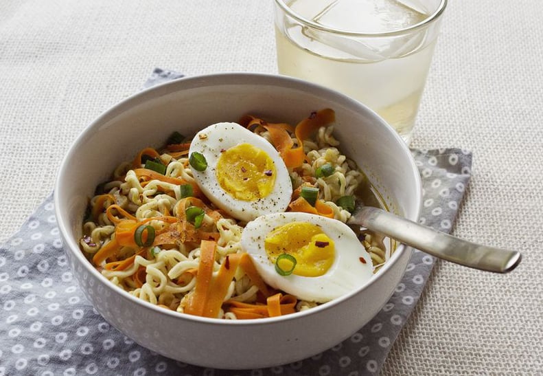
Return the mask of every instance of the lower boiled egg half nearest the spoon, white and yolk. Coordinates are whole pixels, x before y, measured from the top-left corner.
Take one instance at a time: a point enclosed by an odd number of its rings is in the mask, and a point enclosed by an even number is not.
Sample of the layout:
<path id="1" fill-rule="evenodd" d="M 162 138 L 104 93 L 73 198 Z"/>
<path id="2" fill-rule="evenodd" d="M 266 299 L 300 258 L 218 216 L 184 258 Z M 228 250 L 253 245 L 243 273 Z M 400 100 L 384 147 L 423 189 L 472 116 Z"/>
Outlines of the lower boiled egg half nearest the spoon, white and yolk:
<path id="1" fill-rule="evenodd" d="M 316 214 L 258 217 L 247 223 L 241 242 L 264 282 L 299 299 L 327 302 L 373 275 L 371 257 L 349 226 Z"/>

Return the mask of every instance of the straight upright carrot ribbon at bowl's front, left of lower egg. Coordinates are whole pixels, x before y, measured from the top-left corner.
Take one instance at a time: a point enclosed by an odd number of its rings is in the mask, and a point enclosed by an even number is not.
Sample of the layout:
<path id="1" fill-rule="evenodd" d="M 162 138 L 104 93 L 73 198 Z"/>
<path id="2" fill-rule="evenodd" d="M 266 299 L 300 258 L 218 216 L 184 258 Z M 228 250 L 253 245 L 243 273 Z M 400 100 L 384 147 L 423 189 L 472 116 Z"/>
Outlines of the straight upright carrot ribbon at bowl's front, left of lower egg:
<path id="1" fill-rule="evenodd" d="M 202 241 L 200 243 L 200 262 L 194 291 L 189 295 L 185 313 L 195 316 L 206 316 L 206 305 L 211 293 L 211 277 L 215 263 L 217 243 Z"/>

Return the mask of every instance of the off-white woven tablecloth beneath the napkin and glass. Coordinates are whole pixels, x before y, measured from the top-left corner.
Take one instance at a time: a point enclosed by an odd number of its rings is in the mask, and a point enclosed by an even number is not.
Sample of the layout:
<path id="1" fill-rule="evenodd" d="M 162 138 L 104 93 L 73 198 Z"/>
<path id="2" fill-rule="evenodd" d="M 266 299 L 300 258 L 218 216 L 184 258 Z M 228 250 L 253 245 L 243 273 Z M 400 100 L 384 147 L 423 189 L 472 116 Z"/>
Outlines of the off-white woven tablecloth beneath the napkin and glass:
<path id="1" fill-rule="evenodd" d="M 448 4 L 411 146 L 472 151 L 453 232 L 524 258 L 507 275 L 437 263 L 383 375 L 543 374 L 541 19 L 541 1 Z M 276 73 L 274 46 L 271 0 L 1 1 L 0 243 L 154 67 Z"/>

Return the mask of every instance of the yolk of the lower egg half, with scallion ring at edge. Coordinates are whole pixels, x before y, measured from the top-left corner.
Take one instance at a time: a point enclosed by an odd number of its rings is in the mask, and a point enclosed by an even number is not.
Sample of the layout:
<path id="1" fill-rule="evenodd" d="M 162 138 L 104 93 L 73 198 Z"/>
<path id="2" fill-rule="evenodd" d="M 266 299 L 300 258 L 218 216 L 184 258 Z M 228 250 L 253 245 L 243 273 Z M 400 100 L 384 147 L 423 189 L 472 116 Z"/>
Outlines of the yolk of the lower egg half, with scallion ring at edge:
<path id="1" fill-rule="evenodd" d="M 280 254 L 294 256 L 296 267 L 292 274 L 304 277 L 325 274 L 334 263 L 336 253 L 334 241 L 319 226 L 305 222 L 291 222 L 275 228 L 266 236 L 264 248 L 274 264 Z M 285 263 L 290 264 L 289 261 Z M 279 267 L 288 270 L 292 264 Z"/>

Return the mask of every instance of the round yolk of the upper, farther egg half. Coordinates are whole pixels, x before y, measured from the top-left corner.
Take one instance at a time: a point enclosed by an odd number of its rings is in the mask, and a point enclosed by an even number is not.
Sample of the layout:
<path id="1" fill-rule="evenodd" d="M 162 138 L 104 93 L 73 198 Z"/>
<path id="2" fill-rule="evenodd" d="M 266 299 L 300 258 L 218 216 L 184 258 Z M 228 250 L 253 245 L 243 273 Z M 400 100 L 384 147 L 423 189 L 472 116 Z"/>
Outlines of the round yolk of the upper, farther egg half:
<path id="1" fill-rule="evenodd" d="M 223 190 L 235 199 L 256 201 L 270 194 L 275 184 L 275 164 L 270 156 L 251 144 L 222 151 L 216 176 Z"/>

